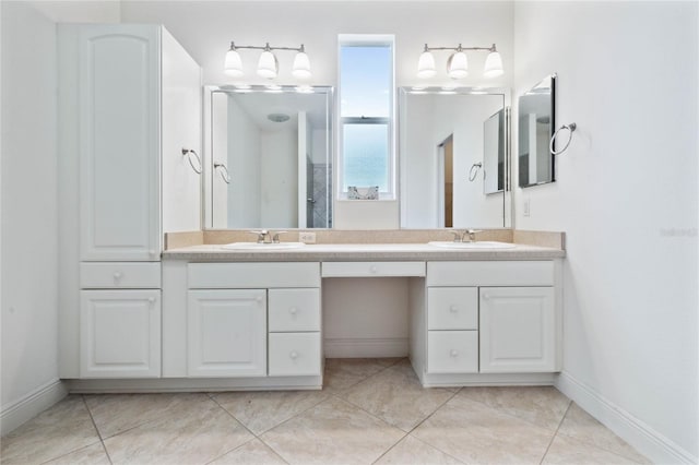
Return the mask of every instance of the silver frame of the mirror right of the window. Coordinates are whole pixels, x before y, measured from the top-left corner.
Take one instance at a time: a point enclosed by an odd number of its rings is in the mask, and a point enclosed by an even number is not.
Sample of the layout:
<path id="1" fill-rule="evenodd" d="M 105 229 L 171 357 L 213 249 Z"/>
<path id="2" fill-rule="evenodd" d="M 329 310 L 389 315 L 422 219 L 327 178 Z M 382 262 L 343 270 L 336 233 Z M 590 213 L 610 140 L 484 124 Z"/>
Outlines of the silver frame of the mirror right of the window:
<path id="1" fill-rule="evenodd" d="M 469 225 L 464 227 L 487 227 L 488 229 L 510 229 L 514 224 L 514 202 L 512 201 L 512 111 L 511 111 L 511 91 L 507 87 L 441 87 L 441 86 L 426 86 L 416 88 L 414 86 L 400 86 L 398 87 L 396 99 L 396 114 L 398 114 L 398 164 L 399 164 L 399 225 L 402 225 L 402 215 L 405 210 L 403 191 L 405 189 L 405 170 L 403 169 L 404 154 L 401 147 L 403 134 L 401 134 L 401 116 L 403 112 L 403 106 L 405 105 L 406 94 L 430 94 L 430 95 L 500 95 L 502 96 L 502 110 L 505 111 L 505 186 L 503 189 L 497 192 L 485 193 L 487 196 L 496 194 L 502 194 L 502 225 L 497 227 L 484 226 L 484 225 Z M 483 130 L 483 129 L 482 129 Z M 478 172 L 478 177 L 483 174 Z M 484 186 L 485 188 L 485 186 Z M 400 229 L 411 230 L 414 228 L 399 226 Z M 430 229 L 441 229 L 440 227 L 434 227 Z"/>

